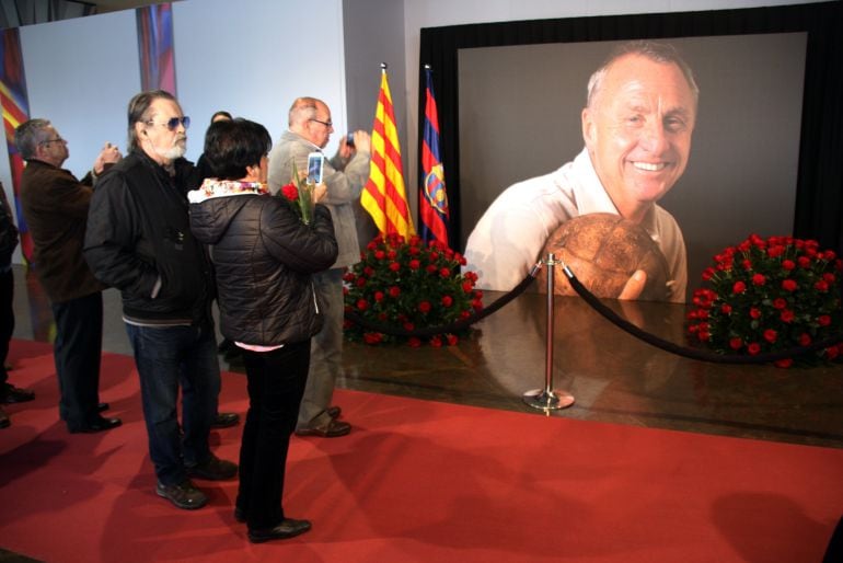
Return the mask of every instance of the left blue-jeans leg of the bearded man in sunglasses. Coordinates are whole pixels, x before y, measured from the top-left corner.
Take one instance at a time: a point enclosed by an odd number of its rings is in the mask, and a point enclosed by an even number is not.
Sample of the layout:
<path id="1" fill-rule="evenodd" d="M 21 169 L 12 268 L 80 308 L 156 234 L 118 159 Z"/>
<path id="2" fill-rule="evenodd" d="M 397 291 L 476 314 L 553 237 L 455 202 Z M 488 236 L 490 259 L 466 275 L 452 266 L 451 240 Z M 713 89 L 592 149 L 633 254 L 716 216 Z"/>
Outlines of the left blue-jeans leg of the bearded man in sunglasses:
<path id="1" fill-rule="evenodd" d="M 182 462 L 176 401 L 182 348 L 190 331 L 189 326 L 152 329 L 126 323 L 140 378 L 149 456 L 158 481 L 168 486 L 187 479 Z"/>

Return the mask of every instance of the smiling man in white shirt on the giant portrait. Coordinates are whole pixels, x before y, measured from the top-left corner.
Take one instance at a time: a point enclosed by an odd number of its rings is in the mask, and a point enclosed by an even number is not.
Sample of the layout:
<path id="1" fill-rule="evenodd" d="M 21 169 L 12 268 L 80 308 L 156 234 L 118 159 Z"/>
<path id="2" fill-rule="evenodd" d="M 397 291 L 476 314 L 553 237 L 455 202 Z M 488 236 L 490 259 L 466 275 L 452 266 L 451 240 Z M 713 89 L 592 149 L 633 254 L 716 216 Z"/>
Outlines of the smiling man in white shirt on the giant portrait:
<path id="1" fill-rule="evenodd" d="M 669 268 L 668 300 L 683 302 L 684 240 L 658 202 L 688 164 L 698 90 L 669 45 L 622 45 L 588 84 L 586 148 L 550 174 L 519 182 L 489 206 L 469 237 L 467 268 L 478 286 L 509 290 L 539 258 L 547 237 L 579 215 L 612 212 L 642 226 Z M 646 274 L 633 274 L 619 298 L 635 299 Z"/>

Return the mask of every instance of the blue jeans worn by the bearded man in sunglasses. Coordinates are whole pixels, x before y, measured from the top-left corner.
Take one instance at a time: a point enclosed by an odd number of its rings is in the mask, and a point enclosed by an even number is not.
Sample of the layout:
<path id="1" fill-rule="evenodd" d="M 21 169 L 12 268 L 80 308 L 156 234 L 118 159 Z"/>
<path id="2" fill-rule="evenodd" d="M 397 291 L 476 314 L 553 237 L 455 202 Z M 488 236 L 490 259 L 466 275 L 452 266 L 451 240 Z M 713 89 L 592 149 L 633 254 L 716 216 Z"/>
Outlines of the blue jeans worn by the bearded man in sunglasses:
<path id="1" fill-rule="evenodd" d="M 126 323 L 140 376 L 149 456 L 163 485 L 187 479 L 185 467 L 210 457 L 208 434 L 220 391 L 213 323 L 149 328 Z M 182 427 L 178 388 L 182 388 Z"/>

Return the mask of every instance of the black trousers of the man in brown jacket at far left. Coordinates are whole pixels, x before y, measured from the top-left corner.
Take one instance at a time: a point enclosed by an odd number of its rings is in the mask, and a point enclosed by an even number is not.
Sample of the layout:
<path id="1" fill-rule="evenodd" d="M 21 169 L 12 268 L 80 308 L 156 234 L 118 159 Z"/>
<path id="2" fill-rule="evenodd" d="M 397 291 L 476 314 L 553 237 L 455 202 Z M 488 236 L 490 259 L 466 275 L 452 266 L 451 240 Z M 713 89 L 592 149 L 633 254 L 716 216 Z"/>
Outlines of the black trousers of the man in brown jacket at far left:
<path id="1" fill-rule="evenodd" d="M 53 303 L 56 342 L 53 353 L 61 399 L 59 415 L 69 430 L 100 416 L 100 359 L 103 346 L 103 295 L 97 291 Z"/>

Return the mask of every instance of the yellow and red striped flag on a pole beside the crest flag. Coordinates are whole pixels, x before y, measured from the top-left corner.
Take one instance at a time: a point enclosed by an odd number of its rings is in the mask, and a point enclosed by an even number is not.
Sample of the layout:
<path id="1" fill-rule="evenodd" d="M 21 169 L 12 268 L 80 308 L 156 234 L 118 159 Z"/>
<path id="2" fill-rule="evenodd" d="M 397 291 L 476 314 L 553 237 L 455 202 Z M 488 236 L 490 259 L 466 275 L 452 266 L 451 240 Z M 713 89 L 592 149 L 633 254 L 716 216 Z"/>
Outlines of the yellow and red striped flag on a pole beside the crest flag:
<path id="1" fill-rule="evenodd" d="M 381 68 L 381 91 L 372 126 L 369 181 L 360 195 L 360 204 L 372 216 L 382 234 L 397 233 L 409 238 L 416 233 L 404 189 L 399 131 L 385 66 Z"/>

